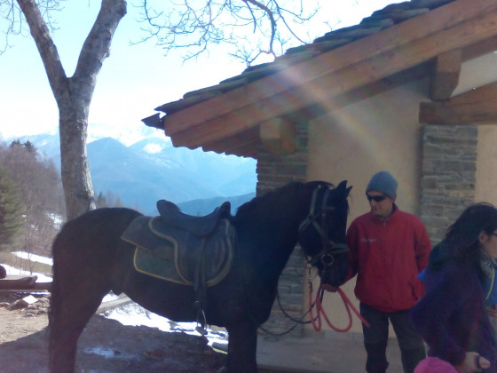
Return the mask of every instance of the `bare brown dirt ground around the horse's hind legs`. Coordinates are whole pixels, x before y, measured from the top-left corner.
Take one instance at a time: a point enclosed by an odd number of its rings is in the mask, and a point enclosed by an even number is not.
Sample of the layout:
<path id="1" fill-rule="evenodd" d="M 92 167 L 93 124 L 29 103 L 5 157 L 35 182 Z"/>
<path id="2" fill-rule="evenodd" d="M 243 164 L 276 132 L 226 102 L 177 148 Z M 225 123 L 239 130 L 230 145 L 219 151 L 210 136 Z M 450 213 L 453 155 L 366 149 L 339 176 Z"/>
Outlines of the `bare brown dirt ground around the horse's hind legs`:
<path id="1" fill-rule="evenodd" d="M 0 371 L 48 373 L 48 299 L 37 296 L 20 306 L 19 296 L 0 293 Z M 223 371 L 225 354 L 215 353 L 203 337 L 144 326 L 124 326 L 95 315 L 79 339 L 75 372 Z"/>

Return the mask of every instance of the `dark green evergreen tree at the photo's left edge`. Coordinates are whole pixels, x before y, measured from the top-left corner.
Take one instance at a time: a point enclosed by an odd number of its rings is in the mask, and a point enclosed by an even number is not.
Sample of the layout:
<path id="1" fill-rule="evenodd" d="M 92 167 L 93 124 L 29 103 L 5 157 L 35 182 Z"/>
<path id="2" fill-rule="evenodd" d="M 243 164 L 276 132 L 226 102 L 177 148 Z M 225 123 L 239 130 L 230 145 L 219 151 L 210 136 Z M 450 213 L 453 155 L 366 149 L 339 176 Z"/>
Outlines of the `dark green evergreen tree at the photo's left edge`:
<path id="1" fill-rule="evenodd" d="M 9 248 L 23 224 L 22 204 L 17 190 L 9 172 L 0 165 L 0 250 Z"/>

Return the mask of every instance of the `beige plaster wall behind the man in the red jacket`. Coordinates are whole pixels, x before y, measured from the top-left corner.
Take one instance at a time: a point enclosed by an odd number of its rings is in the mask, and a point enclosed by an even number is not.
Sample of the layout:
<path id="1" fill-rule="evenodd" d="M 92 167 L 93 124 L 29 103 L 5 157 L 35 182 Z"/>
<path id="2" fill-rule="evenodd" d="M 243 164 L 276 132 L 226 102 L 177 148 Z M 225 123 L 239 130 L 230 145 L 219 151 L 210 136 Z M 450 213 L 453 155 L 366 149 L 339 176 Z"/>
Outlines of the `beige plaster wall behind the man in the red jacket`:
<path id="1" fill-rule="evenodd" d="M 352 186 L 352 219 L 369 210 L 365 189 L 372 175 L 390 171 L 398 180 L 398 207 L 419 216 L 421 127 L 419 102 L 427 100 L 428 80 L 409 83 L 319 117 L 309 126 L 307 179 L 337 185 L 347 179 Z M 353 294 L 355 279 L 342 289 L 359 309 Z M 319 281 L 314 281 L 314 289 Z M 307 295 L 304 296 L 307 299 Z M 348 316 L 337 293 L 327 293 L 324 308 L 330 321 L 343 328 Z M 353 316 L 352 332 L 362 332 Z M 308 326 L 306 331 L 310 331 Z M 324 328 L 328 329 L 329 328 Z"/>

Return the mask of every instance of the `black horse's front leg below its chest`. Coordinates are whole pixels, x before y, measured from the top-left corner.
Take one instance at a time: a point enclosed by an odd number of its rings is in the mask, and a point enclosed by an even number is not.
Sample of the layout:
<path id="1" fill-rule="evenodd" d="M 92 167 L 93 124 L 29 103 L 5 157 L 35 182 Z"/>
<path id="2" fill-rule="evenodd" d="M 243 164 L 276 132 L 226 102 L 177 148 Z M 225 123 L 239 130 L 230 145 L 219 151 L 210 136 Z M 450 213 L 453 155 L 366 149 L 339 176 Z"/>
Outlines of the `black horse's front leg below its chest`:
<path id="1" fill-rule="evenodd" d="M 226 327 L 229 336 L 228 373 L 255 373 L 257 371 L 257 327 L 253 322 L 243 321 Z"/>

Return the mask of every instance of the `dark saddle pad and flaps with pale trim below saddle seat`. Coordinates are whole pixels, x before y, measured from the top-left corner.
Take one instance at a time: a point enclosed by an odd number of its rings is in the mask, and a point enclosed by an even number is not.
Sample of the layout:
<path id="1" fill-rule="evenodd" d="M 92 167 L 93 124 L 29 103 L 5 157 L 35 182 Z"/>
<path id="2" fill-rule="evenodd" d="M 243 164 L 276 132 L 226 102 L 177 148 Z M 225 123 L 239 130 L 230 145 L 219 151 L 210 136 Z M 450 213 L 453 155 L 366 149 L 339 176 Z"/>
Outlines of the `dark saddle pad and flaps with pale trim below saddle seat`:
<path id="1" fill-rule="evenodd" d="M 200 239 L 166 225 L 161 217 L 138 217 L 121 238 L 136 246 L 133 264 L 138 272 L 170 282 L 193 285 L 201 266 L 207 286 L 213 286 L 225 278 L 232 265 L 234 228 L 225 219 L 209 237 Z"/>

